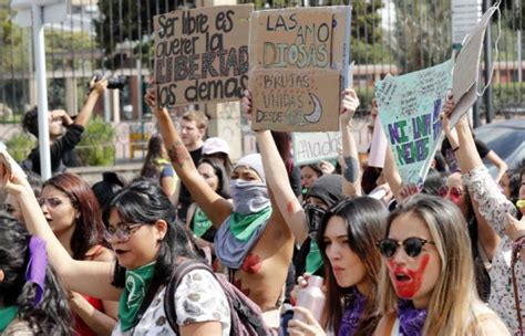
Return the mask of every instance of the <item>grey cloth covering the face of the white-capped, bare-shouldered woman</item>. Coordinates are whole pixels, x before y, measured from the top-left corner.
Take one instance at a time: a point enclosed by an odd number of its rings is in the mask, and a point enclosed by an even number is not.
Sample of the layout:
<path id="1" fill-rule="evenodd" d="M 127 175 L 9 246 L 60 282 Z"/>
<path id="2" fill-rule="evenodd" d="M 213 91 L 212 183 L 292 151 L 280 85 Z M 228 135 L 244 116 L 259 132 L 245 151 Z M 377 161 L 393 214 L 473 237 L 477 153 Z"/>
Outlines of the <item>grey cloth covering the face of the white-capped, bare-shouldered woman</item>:
<path id="1" fill-rule="evenodd" d="M 248 182 L 240 179 L 230 182 L 234 211 L 240 214 L 259 212 L 270 204 L 265 183 Z"/>

